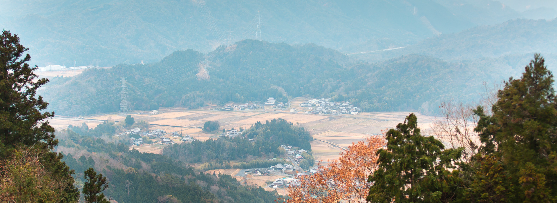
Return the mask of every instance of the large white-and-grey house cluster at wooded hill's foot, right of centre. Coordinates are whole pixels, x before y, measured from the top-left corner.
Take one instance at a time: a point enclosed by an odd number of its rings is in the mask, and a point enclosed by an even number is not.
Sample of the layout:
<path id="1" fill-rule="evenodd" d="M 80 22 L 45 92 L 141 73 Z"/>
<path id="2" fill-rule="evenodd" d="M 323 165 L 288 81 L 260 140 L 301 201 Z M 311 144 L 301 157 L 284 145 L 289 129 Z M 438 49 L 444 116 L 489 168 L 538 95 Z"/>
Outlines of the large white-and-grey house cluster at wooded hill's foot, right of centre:
<path id="1" fill-rule="evenodd" d="M 360 108 L 354 107 L 350 102 L 330 102 L 330 100 L 330 98 L 321 98 L 319 100 L 314 98 L 300 103 L 300 106 L 306 107 L 309 110 L 305 113 L 315 114 L 358 114 L 361 111 Z"/>

